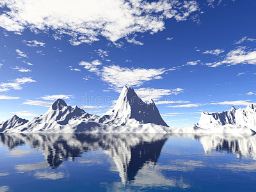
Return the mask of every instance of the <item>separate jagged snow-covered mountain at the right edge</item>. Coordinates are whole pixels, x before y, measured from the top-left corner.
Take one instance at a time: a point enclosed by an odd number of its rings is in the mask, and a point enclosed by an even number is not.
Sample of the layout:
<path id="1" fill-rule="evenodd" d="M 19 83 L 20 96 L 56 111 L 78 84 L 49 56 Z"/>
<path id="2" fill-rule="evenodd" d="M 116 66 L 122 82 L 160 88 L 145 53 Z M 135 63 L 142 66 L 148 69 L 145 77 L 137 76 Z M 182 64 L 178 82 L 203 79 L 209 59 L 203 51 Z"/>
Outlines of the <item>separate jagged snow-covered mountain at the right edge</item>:
<path id="1" fill-rule="evenodd" d="M 232 106 L 230 111 L 222 113 L 202 112 L 198 122 L 199 127 L 216 128 L 228 125 L 246 127 L 256 131 L 256 105 L 251 104 L 245 109 L 236 109 Z"/>

